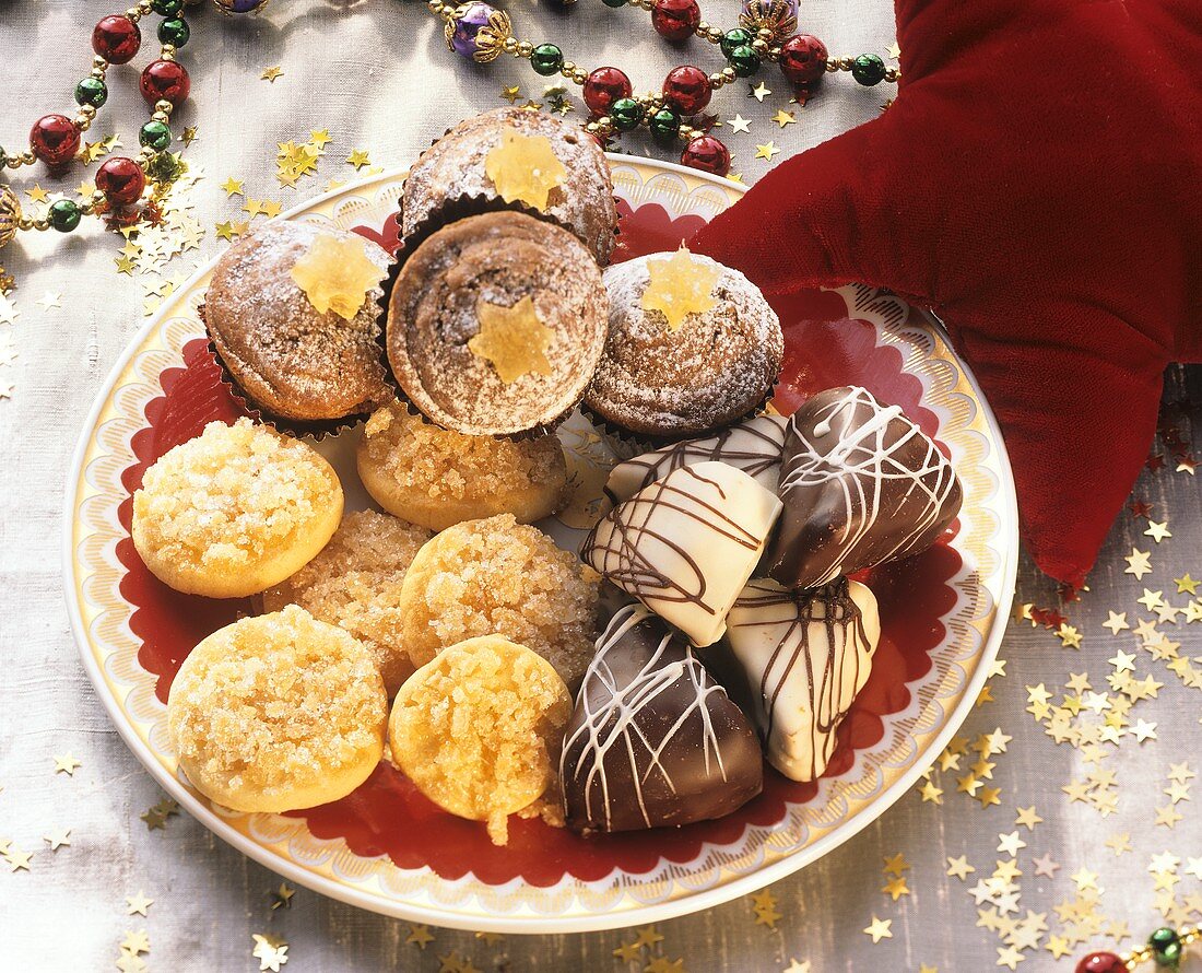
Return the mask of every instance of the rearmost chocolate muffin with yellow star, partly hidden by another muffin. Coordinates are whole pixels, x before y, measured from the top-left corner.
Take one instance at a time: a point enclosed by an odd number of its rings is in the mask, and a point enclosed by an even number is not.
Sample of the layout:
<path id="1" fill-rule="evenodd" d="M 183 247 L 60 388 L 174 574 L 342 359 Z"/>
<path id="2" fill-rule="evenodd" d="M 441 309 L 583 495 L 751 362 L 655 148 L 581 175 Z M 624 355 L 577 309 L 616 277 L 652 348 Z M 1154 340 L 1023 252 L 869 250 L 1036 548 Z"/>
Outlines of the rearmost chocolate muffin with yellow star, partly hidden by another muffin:
<path id="1" fill-rule="evenodd" d="M 506 141 L 516 146 L 506 148 Z M 548 148 L 554 158 L 545 159 L 546 171 L 535 173 L 542 177 L 535 182 L 536 192 L 522 191 L 529 183 L 518 185 L 517 194 L 504 179 L 498 184 L 498 168 L 524 178 Z M 541 210 L 571 230 L 599 263 L 609 261 L 618 226 L 609 166 L 596 140 L 576 125 L 512 107 L 460 121 L 410 170 L 401 198 L 401 236 L 411 236 L 448 201 L 460 198 Z"/>

